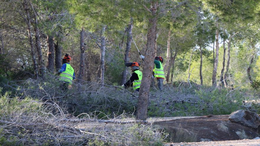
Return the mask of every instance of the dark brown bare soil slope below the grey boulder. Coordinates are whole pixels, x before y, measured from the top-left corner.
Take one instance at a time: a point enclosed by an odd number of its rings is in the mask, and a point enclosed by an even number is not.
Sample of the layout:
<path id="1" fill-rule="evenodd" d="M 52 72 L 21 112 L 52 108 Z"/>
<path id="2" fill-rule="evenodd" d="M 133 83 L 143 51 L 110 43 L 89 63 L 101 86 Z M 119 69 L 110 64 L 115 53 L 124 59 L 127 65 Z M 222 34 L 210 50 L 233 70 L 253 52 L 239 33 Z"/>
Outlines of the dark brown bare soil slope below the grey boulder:
<path id="1" fill-rule="evenodd" d="M 173 142 L 253 139 L 258 130 L 228 120 L 229 115 L 152 120 L 171 134 Z"/>

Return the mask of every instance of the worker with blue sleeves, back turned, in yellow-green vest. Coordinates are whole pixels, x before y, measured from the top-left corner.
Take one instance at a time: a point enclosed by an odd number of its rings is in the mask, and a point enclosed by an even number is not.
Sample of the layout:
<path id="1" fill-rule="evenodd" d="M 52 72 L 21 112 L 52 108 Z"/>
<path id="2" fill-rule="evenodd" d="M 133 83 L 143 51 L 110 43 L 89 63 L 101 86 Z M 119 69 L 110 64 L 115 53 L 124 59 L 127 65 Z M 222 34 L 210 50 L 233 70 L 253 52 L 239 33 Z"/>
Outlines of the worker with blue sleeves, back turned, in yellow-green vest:
<path id="1" fill-rule="evenodd" d="M 62 81 L 60 88 L 63 91 L 68 90 L 68 86 L 71 85 L 72 80 L 75 79 L 74 69 L 70 65 L 71 57 L 68 54 L 65 54 L 64 58 L 62 59 L 62 66 L 61 69 L 58 71 L 60 73 L 59 80 Z"/>

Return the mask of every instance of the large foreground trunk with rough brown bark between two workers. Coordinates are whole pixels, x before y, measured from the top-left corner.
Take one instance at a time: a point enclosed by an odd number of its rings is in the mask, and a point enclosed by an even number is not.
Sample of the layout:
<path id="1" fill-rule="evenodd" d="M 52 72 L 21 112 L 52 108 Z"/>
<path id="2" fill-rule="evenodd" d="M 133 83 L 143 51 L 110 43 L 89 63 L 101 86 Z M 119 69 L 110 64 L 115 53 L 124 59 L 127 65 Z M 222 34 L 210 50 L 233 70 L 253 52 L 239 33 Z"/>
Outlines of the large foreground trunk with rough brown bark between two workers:
<path id="1" fill-rule="evenodd" d="M 149 92 L 150 85 L 152 80 L 152 70 L 154 68 L 153 60 L 155 58 L 155 49 L 156 49 L 156 34 L 157 34 L 157 17 L 156 11 L 158 7 L 158 2 L 151 2 L 150 11 L 152 16 L 149 18 L 149 27 L 147 33 L 147 44 L 145 51 L 145 60 L 143 65 L 143 77 L 140 87 L 140 93 L 138 98 L 138 107 L 137 107 L 137 119 L 146 120 L 147 118 L 147 109 L 149 102 Z"/>

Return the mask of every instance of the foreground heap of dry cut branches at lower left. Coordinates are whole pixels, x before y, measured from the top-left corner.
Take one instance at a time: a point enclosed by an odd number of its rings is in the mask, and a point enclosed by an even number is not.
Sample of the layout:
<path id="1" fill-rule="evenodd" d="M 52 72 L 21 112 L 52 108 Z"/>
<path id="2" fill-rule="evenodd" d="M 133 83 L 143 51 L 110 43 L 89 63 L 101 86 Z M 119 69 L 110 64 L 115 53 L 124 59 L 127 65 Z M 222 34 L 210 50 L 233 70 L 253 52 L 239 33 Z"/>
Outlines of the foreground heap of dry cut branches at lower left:
<path id="1" fill-rule="evenodd" d="M 152 131 L 152 124 L 146 124 L 147 121 L 123 118 L 127 114 L 107 120 L 81 114 L 81 117 L 84 116 L 79 119 L 64 114 L 64 109 L 55 102 L 7 97 L 0 98 L 0 106 L 0 139 L 4 140 L 1 141 L 3 145 L 97 144 L 95 142 L 129 145 L 142 143 L 144 137 L 151 143 L 160 141 L 162 135 L 158 135 L 156 129 Z"/>

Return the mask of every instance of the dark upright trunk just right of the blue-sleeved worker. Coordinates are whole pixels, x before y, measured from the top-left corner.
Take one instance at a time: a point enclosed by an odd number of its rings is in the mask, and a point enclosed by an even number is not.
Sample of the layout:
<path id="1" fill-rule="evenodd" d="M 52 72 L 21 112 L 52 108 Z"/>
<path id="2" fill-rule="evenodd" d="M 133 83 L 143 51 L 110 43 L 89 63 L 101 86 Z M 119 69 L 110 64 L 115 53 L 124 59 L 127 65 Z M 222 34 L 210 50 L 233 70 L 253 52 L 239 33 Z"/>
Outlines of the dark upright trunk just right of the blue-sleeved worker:
<path id="1" fill-rule="evenodd" d="M 80 65 L 79 65 L 79 75 L 78 75 L 78 80 L 79 83 L 82 83 L 83 77 L 84 77 L 84 70 L 85 70 L 85 30 L 81 28 L 80 32 Z M 80 86 L 79 86 L 80 88 Z"/>

